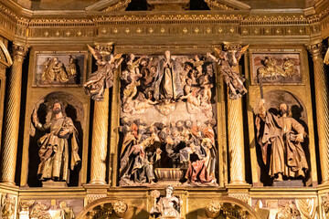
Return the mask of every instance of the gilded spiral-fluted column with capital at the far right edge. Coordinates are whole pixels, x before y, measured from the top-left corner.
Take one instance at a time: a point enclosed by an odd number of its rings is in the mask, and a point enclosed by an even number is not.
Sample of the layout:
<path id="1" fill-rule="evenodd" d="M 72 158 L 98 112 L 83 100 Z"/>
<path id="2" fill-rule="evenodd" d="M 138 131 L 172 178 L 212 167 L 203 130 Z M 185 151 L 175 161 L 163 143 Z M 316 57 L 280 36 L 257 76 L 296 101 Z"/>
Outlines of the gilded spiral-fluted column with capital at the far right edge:
<path id="1" fill-rule="evenodd" d="M 307 46 L 313 58 L 316 124 L 319 139 L 319 153 L 322 183 L 329 183 L 329 97 L 328 80 L 322 57 L 322 43 Z"/>

